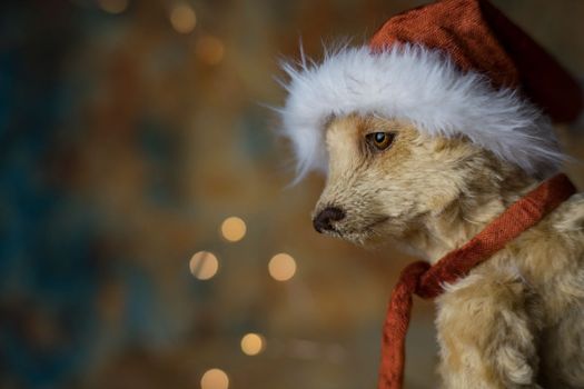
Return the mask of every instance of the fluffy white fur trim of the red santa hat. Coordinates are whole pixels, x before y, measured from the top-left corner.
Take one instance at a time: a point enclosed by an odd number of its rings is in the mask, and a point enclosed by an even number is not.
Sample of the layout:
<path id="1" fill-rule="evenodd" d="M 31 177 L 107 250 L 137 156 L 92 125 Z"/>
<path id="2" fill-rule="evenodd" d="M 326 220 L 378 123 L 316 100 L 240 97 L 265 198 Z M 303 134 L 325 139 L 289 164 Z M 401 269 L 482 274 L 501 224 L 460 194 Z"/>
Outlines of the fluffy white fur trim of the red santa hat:
<path id="1" fill-rule="evenodd" d="M 430 134 L 466 136 L 534 176 L 563 160 L 548 118 L 513 89 L 495 90 L 477 72 L 462 72 L 436 50 L 403 44 L 372 52 L 344 47 L 317 64 L 285 63 L 290 81 L 281 109 L 294 146 L 297 178 L 326 171 L 324 127 L 349 113 L 405 119 Z"/>

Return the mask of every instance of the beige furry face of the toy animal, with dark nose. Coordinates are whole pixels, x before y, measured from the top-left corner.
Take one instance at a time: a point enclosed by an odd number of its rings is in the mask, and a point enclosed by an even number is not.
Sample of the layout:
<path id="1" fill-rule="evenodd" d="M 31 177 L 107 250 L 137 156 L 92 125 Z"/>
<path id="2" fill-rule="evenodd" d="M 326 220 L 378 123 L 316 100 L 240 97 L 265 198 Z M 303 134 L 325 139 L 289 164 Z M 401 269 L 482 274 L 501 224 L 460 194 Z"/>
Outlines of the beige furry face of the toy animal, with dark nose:
<path id="1" fill-rule="evenodd" d="M 360 245 L 419 229 L 492 160 L 465 139 L 430 137 L 376 117 L 334 119 L 325 139 L 328 177 L 313 215 L 315 228 Z"/>

